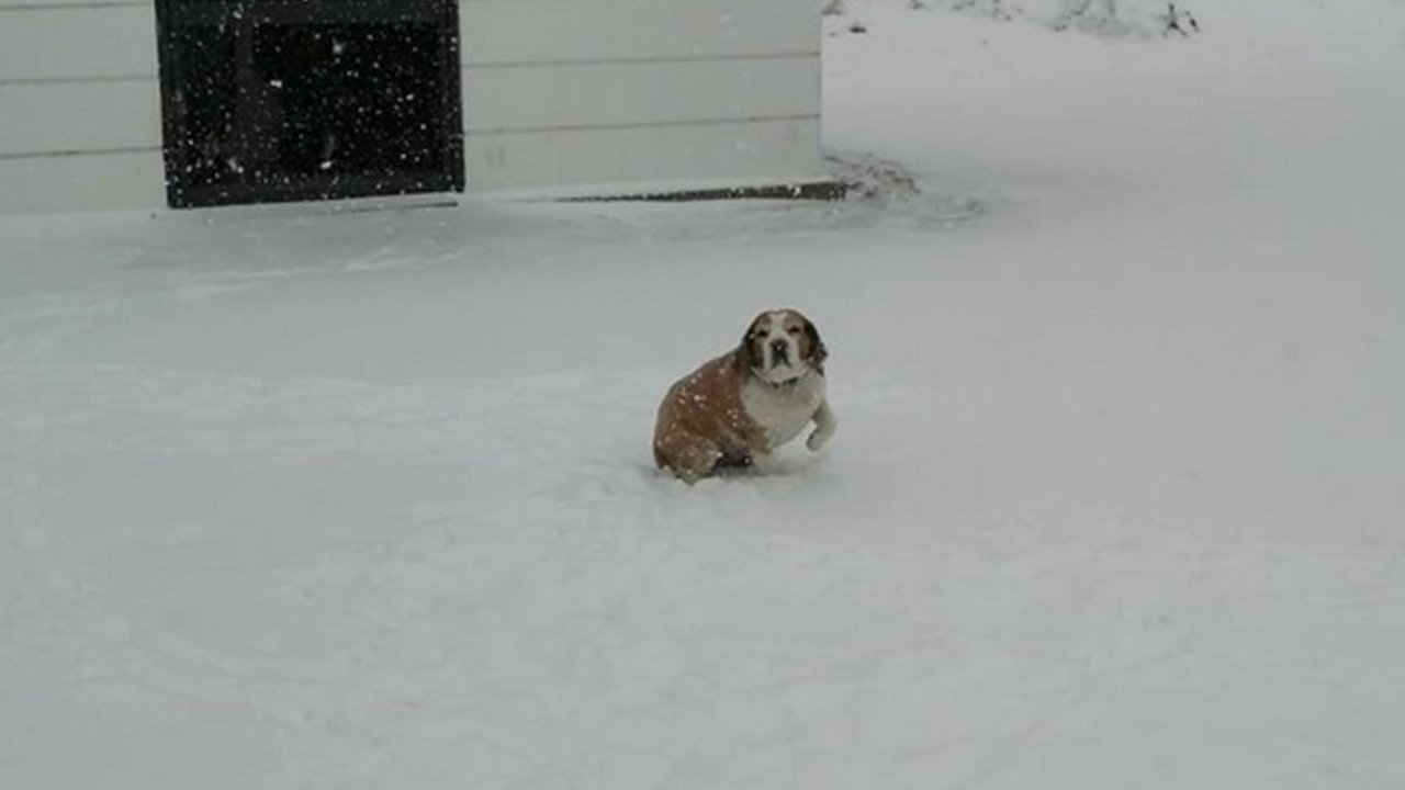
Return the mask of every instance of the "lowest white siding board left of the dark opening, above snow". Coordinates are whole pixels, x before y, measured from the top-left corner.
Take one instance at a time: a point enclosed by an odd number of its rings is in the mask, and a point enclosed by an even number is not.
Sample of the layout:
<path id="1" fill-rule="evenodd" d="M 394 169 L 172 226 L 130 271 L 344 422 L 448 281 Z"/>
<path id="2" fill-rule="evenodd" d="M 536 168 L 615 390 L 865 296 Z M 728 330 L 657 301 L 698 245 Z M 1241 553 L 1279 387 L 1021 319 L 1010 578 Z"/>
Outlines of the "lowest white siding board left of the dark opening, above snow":
<path id="1" fill-rule="evenodd" d="M 166 205 L 159 150 L 0 159 L 0 214 Z"/>

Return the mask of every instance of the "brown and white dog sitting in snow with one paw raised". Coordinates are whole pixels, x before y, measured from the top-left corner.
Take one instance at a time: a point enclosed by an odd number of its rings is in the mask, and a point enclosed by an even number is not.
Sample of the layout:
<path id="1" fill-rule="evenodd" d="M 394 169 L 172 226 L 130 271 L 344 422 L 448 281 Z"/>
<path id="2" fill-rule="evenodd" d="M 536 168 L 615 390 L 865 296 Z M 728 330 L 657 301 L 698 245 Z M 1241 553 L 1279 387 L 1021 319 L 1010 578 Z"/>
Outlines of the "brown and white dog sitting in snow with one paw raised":
<path id="1" fill-rule="evenodd" d="M 763 312 L 735 350 L 677 381 L 659 405 L 653 460 L 687 482 L 726 468 L 764 471 L 771 453 L 813 422 L 805 446 L 835 434 L 825 399 L 825 343 L 792 309 Z"/>

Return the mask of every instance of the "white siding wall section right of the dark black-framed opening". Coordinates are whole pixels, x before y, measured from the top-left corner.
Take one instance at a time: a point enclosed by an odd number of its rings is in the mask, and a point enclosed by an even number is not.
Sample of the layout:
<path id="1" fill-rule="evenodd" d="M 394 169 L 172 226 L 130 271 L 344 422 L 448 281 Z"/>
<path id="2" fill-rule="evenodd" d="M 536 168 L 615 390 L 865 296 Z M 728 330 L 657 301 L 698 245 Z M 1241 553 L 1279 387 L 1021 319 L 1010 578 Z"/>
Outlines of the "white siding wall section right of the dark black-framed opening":
<path id="1" fill-rule="evenodd" d="M 461 0 L 459 25 L 469 191 L 822 171 L 816 0 Z"/>

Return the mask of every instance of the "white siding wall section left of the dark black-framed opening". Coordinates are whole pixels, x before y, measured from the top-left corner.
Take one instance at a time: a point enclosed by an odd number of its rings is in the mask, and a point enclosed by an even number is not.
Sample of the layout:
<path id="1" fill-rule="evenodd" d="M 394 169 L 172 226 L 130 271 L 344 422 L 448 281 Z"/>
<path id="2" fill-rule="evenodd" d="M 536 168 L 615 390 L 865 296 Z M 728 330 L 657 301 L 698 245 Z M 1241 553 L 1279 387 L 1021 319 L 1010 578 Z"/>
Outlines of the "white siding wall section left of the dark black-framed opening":
<path id="1" fill-rule="evenodd" d="M 155 208 L 150 0 L 0 0 L 0 212 Z"/>

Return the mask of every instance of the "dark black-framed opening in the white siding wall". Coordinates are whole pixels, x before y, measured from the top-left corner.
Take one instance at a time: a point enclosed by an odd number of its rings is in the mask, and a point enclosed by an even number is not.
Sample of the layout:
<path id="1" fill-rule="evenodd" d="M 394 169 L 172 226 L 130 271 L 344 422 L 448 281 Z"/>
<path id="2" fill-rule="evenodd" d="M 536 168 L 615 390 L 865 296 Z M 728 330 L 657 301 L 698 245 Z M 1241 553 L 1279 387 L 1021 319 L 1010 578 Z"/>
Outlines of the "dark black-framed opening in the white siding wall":
<path id="1" fill-rule="evenodd" d="M 462 191 L 458 0 L 157 0 L 171 207 Z"/>

